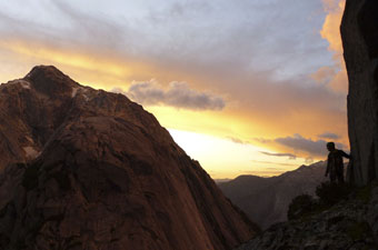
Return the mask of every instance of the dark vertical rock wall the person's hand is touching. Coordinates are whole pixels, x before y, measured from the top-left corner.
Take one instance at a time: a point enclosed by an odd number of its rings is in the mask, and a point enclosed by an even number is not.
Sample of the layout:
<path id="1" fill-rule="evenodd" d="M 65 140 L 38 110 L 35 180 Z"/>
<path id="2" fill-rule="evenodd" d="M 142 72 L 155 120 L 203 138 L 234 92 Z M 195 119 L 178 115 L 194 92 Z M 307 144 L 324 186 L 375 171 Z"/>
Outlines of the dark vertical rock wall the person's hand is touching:
<path id="1" fill-rule="evenodd" d="M 349 78 L 350 179 L 366 184 L 378 174 L 378 2 L 347 0 L 341 37 Z"/>

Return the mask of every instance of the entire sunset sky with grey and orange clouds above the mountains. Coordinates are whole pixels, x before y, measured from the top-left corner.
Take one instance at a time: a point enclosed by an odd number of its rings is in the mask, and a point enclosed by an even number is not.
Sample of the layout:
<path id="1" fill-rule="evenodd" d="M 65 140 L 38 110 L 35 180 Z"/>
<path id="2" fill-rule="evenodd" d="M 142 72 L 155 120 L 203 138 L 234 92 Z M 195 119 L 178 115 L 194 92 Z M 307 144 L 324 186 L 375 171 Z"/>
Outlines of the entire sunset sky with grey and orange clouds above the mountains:
<path id="1" fill-rule="evenodd" d="M 345 0 L 0 0 L 0 82 L 36 64 L 152 112 L 215 179 L 348 151 Z"/>

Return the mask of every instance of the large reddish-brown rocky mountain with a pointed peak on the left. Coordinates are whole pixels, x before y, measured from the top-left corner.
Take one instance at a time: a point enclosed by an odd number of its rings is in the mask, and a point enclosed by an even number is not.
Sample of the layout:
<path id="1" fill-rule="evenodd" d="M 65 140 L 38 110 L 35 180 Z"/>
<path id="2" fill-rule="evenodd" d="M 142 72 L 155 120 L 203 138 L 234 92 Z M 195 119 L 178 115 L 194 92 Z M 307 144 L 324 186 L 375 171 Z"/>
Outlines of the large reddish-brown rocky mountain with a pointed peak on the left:
<path id="1" fill-rule="evenodd" d="M 54 67 L 0 86 L 0 249 L 226 250 L 258 228 L 141 106 Z"/>

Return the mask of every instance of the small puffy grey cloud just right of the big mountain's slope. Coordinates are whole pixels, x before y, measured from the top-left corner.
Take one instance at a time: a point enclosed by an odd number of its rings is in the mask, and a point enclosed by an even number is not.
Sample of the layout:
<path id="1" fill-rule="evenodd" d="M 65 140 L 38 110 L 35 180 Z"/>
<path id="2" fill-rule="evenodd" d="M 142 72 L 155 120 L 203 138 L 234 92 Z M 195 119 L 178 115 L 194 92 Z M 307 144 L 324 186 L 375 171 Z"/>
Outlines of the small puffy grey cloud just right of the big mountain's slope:
<path id="1" fill-rule="evenodd" d="M 122 92 L 113 89 L 113 92 Z M 156 81 L 135 82 L 123 92 L 133 101 L 146 106 L 170 106 L 190 110 L 222 110 L 226 102 L 221 97 L 190 89 L 186 82 L 171 82 L 168 89 Z"/>

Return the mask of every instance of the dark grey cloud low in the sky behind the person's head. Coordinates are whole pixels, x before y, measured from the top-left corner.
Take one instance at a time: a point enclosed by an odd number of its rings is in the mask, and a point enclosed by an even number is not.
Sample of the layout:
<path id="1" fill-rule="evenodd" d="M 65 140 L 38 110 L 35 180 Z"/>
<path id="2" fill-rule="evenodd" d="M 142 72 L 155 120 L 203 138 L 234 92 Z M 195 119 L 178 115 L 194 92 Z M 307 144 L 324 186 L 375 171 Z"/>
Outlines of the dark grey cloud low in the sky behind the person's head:
<path id="1" fill-rule="evenodd" d="M 307 152 L 314 157 L 324 157 L 327 154 L 327 141 L 325 140 L 306 139 L 302 136 L 296 133 L 292 137 L 277 138 L 275 141 L 296 151 Z M 344 148 L 344 144 L 341 143 L 336 144 L 338 148 Z"/>

